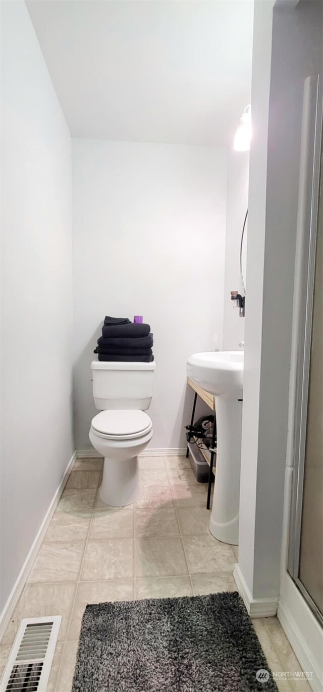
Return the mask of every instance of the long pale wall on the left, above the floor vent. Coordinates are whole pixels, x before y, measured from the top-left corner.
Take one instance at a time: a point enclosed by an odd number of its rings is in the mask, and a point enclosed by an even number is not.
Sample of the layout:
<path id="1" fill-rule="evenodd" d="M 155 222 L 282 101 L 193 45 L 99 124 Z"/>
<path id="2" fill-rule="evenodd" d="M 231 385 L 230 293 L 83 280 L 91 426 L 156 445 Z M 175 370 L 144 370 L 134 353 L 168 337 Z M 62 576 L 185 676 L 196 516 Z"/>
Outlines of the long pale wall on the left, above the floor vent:
<path id="1" fill-rule="evenodd" d="M 71 138 L 19 0 L 1 68 L 0 610 L 73 453 Z"/>

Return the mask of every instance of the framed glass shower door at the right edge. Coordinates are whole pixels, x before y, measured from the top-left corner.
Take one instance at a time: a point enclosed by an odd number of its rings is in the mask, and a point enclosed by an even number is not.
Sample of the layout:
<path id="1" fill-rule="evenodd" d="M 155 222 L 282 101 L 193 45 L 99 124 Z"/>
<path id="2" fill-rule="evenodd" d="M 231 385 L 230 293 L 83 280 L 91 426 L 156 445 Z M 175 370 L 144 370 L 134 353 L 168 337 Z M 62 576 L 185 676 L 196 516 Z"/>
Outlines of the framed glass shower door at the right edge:
<path id="1" fill-rule="evenodd" d="M 297 389 L 288 572 L 323 624 L 322 86 L 304 87 L 299 219 Z"/>

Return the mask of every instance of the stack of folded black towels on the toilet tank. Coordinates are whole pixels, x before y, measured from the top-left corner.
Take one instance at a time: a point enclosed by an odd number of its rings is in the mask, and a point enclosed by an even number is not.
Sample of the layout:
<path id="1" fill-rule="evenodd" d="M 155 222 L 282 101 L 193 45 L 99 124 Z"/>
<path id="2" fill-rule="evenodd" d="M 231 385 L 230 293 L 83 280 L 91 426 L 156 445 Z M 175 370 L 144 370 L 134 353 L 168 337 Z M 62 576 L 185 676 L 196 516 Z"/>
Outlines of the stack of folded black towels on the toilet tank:
<path id="1" fill-rule="evenodd" d="M 149 325 L 133 324 L 127 318 L 105 317 L 94 353 L 98 353 L 99 361 L 151 363 L 153 343 Z"/>

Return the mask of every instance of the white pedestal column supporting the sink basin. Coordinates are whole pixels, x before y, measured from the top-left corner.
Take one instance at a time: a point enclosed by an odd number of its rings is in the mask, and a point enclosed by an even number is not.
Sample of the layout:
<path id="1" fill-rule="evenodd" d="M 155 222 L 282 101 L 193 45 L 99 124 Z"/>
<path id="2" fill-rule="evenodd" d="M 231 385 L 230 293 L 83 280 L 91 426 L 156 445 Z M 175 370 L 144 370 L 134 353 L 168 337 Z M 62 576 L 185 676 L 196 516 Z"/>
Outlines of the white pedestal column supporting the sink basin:
<path id="1" fill-rule="evenodd" d="M 210 531 L 238 545 L 242 401 L 215 398 L 216 471 Z"/>

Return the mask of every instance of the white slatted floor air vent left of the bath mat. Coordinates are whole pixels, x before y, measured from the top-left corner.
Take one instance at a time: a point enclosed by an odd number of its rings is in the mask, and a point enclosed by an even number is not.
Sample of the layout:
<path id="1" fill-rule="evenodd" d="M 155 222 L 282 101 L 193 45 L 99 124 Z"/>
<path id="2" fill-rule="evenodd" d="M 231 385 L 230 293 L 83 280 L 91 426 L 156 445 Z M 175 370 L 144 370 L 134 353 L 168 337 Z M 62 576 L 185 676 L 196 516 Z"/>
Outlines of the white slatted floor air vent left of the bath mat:
<path id="1" fill-rule="evenodd" d="M 46 692 L 61 620 L 60 615 L 21 620 L 1 692 Z"/>

